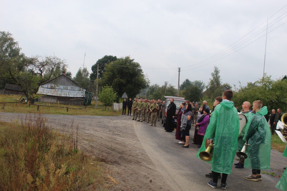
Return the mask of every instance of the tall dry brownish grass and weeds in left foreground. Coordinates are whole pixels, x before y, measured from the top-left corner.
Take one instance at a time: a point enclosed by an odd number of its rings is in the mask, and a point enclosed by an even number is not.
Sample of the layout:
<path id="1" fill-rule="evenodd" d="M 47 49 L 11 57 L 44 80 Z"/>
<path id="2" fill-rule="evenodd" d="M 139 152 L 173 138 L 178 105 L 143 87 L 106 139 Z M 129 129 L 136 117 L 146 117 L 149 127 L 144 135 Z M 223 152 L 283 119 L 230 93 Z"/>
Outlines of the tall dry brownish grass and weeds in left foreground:
<path id="1" fill-rule="evenodd" d="M 53 132 L 45 119 L 0 122 L 0 190 L 105 190 L 104 163 L 77 148 L 77 128 Z"/>

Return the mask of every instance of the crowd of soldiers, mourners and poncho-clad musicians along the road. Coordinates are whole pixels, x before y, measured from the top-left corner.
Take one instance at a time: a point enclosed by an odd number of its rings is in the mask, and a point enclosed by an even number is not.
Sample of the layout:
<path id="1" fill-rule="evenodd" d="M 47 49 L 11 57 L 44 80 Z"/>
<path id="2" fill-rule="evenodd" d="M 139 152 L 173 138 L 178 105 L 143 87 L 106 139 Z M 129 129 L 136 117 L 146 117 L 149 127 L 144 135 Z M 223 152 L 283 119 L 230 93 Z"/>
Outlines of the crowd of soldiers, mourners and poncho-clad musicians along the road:
<path id="1" fill-rule="evenodd" d="M 175 139 L 179 140 L 178 144 L 182 144 L 184 148 L 189 147 L 189 131 L 191 126 L 195 125 L 191 144 L 197 144 L 200 148 L 197 157 L 200 158 L 199 153 L 206 150 L 205 142 L 213 147 L 212 160 L 206 161 L 212 164 L 211 173 L 205 174 L 206 177 L 212 178 L 208 182 L 212 188 L 217 188 L 218 178 L 221 178 L 220 186 L 222 189 L 226 189 L 226 180 L 228 174 L 231 173 L 234 155 L 236 151 L 241 151 L 244 145 L 248 146 L 246 150 L 248 157 L 246 159 L 240 157 L 239 162 L 234 165 L 236 168 L 252 169 L 251 175 L 243 177 L 245 180 L 262 180 L 261 170 L 270 169 L 271 133 L 274 134 L 276 125 L 282 117 L 281 109 L 277 109 L 277 113 L 273 109 L 269 117 L 267 107 L 263 107 L 260 100 L 253 102 L 252 111 L 251 103 L 245 101 L 240 111 L 238 107 L 234 107 L 234 103 L 231 101 L 232 97 L 231 90 L 224 91 L 222 97 L 215 98 L 212 110 L 206 101 L 203 101 L 203 105 L 198 107 L 197 103 L 193 105 L 187 100 L 181 103 L 177 113 Z M 160 99 L 148 101 L 141 98 L 139 101 L 135 99 L 134 102 L 131 102 L 130 99 L 127 107 L 128 111 L 133 111 L 132 120 L 147 121 L 147 123 L 151 122 L 151 126 L 156 126 L 156 121 L 159 121 L 162 112 Z M 172 119 L 174 119 L 175 111 L 176 106 L 174 100 L 171 99 L 166 114 L 165 130 L 168 132 L 173 131 Z M 238 112 L 245 115 L 247 119 L 240 134 Z M 285 155 L 287 157 L 287 147 L 283 156 Z M 284 172 L 276 187 L 287 190 L 287 172 Z"/>

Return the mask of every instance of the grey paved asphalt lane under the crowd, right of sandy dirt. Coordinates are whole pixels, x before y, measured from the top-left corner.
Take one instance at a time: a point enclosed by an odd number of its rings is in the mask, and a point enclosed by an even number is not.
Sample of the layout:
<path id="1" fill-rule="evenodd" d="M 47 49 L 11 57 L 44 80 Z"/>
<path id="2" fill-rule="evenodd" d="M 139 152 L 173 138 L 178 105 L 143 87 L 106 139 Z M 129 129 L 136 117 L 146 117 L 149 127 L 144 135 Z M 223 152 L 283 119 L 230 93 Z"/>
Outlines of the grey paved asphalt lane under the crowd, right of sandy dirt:
<path id="1" fill-rule="evenodd" d="M 135 132 L 144 149 L 156 164 L 158 171 L 169 182 L 173 190 L 212 190 L 208 186 L 211 178 L 205 174 L 211 172 L 211 164 L 196 157 L 198 145 L 189 142 L 189 148 L 182 148 L 175 139 L 175 131 L 169 133 L 164 131 L 161 121 L 157 121 L 157 126 L 150 126 L 150 123 L 134 121 Z M 190 135 L 193 138 L 194 126 L 191 126 Z M 238 158 L 235 156 L 234 158 Z M 234 160 L 234 163 L 238 162 Z M 277 176 L 282 175 L 284 167 L 287 166 L 287 158 L 281 152 L 271 149 L 271 170 Z M 227 177 L 228 190 L 279 190 L 275 187 L 280 180 L 270 174 L 261 174 L 262 181 L 254 182 L 245 180 L 244 176 L 249 176 L 251 169 L 237 169 L 232 166 L 231 174 Z M 220 182 L 220 179 L 219 179 Z M 220 188 L 220 184 L 219 184 Z"/>

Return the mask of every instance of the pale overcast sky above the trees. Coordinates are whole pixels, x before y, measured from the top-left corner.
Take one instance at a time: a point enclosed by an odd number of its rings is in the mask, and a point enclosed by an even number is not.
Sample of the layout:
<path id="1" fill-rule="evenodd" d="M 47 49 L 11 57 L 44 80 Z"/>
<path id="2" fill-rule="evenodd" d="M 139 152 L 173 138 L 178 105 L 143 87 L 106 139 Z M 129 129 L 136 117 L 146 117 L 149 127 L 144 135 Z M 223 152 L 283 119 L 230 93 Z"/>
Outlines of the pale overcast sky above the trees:
<path id="1" fill-rule="evenodd" d="M 12 33 L 26 56 L 55 53 L 67 60 L 73 76 L 86 50 L 90 72 L 105 55 L 130 56 L 151 84 L 177 88 L 178 67 L 180 84 L 187 78 L 208 84 L 216 65 L 222 82 L 238 87 L 263 76 L 267 18 L 265 72 L 274 80 L 287 75 L 286 4 L 0 0 L 0 30 Z"/>

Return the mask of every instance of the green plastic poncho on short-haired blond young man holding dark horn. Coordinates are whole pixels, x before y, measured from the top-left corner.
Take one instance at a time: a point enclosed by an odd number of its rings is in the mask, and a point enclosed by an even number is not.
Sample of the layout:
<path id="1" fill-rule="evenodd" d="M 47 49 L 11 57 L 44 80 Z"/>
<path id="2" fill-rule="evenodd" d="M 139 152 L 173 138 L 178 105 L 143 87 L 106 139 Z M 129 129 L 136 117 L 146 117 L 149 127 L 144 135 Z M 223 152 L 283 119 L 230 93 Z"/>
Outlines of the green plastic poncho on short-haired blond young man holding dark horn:
<path id="1" fill-rule="evenodd" d="M 271 132 L 264 117 L 267 107 L 262 107 L 252 117 L 243 140 L 248 141 L 244 167 L 249 169 L 270 169 Z"/>

